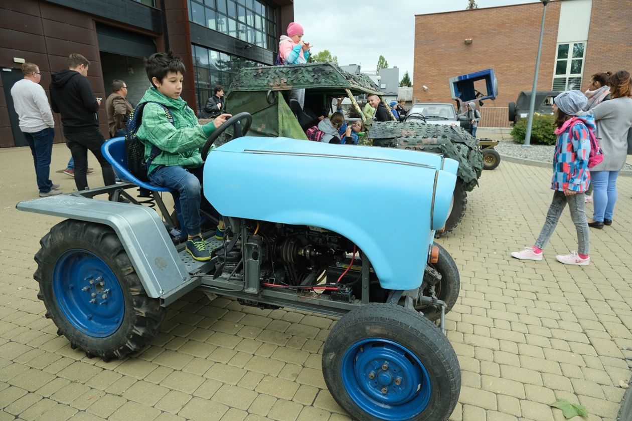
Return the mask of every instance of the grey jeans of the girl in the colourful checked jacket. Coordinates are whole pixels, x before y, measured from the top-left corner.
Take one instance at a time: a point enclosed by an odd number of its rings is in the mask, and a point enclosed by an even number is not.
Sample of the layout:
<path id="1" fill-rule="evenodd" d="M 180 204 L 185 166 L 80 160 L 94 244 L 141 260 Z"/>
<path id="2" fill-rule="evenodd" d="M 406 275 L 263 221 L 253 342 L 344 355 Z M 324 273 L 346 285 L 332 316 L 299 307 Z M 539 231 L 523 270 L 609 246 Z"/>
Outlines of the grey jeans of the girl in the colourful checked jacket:
<path id="1" fill-rule="evenodd" d="M 571 196 L 564 196 L 563 191 L 555 191 L 553 193 L 553 200 L 549 206 L 547 212 L 547 218 L 544 221 L 544 226 L 538 235 L 538 239 L 535 240 L 535 247 L 544 249 L 547 245 L 551 234 L 555 230 L 559 217 L 562 216 L 562 211 L 568 203 L 568 208 L 571 211 L 571 220 L 575 225 L 577 231 L 577 252 L 579 254 L 588 254 L 588 222 L 586 221 L 586 213 L 584 211 L 585 194 L 577 193 Z"/>

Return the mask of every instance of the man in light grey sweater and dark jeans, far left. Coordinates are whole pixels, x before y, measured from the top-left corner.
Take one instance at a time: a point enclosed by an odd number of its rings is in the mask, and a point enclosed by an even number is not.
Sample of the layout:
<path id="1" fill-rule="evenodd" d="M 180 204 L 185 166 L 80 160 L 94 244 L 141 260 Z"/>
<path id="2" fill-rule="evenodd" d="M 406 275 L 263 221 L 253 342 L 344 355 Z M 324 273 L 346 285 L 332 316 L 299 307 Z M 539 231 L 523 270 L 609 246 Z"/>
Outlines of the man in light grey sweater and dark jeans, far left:
<path id="1" fill-rule="evenodd" d="M 27 139 L 33 154 L 35 178 L 41 198 L 60 194 L 59 184 L 54 184 L 51 174 L 52 141 L 55 138 L 55 122 L 52 119 L 51 106 L 46 92 L 39 85 L 42 73 L 37 64 L 22 64 L 24 79 L 17 81 L 11 88 L 11 97 L 15 111 L 20 118 L 20 131 Z"/>

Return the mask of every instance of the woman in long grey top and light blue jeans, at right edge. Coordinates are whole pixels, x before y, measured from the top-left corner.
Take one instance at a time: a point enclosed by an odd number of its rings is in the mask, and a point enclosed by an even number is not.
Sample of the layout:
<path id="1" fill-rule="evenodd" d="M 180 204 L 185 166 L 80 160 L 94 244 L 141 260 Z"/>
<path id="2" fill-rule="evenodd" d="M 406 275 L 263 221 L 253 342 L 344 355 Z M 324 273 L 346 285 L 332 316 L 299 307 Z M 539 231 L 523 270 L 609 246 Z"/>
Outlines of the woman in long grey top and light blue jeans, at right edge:
<path id="1" fill-rule="evenodd" d="M 593 217 L 588 226 L 602 229 L 612 225 L 617 201 L 617 176 L 628 154 L 628 131 L 632 126 L 632 78 L 625 70 L 608 80 L 611 100 L 602 102 L 580 116 L 592 114 L 597 121 L 597 138 L 604 160 L 590 169 L 593 184 Z"/>

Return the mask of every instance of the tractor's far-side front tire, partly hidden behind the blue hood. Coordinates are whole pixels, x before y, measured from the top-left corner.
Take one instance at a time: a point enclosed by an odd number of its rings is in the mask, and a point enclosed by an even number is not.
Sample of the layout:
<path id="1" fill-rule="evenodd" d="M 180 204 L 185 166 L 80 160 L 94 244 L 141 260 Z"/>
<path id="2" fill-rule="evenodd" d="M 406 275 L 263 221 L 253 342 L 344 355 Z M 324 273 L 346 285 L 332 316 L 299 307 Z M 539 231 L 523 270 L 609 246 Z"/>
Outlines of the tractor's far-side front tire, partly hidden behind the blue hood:
<path id="1" fill-rule="evenodd" d="M 446 314 L 452 310 L 456 299 L 459 297 L 459 291 L 461 291 L 461 278 L 459 276 L 459 269 L 456 267 L 456 262 L 450 255 L 450 253 L 444 249 L 441 244 L 435 243 L 435 246 L 439 247 L 439 260 L 437 263 L 428 263 L 431 268 L 441 273 L 441 282 L 435 285 L 435 295 L 437 299 L 443 300 L 446 303 Z M 426 292 L 424 292 L 426 293 Z M 429 288 L 428 294 L 430 296 Z M 428 320 L 435 321 L 441 317 L 441 311 L 433 305 L 419 305 L 415 307 L 416 311 L 423 313 L 423 316 Z"/>

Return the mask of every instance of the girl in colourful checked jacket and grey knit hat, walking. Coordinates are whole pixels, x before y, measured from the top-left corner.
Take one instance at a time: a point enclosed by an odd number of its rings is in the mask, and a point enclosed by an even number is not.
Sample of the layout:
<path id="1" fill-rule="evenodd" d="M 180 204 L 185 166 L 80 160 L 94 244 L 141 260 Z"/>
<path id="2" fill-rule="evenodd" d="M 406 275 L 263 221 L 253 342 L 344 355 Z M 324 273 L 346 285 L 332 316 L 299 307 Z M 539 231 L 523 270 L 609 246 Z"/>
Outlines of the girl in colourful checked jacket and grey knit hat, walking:
<path id="1" fill-rule="evenodd" d="M 542 249 L 549 242 L 557 221 L 568 203 L 571 219 L 577 230 L 577 251 L 556 256 L 564 264 L 587 266 L 588 222 L 584 211 L 584 193 L 590 184 L 588 158 L 590 157 L 590 135 L 588 130 L 595 129 L 592 116 L 576 117 L 585 107 L 585 95 L 581 91 L 562 92 L 554 99 L 553 111 L 556 118 L 557 142 L 553 155 L 553 201 L 549 207 L 544 227 L 532 247 L 523 251 L 511 252 L 511 256 L 523 260 L 542 260 Z"/>

